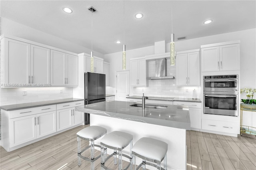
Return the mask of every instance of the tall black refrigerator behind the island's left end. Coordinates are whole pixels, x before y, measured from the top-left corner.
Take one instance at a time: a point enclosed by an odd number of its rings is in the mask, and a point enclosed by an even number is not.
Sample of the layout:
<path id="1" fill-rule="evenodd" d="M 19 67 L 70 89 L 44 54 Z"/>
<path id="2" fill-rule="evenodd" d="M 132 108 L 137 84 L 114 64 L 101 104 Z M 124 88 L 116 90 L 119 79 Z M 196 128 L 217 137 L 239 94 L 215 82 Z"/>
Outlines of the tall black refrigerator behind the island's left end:
<path id="1" fill-rule="evenodd" d="M 106 101 L 106 75 L 84 73 L 84 104 Z M 84 113 L 85 124 L 90 123 L 90 114 Z"/>

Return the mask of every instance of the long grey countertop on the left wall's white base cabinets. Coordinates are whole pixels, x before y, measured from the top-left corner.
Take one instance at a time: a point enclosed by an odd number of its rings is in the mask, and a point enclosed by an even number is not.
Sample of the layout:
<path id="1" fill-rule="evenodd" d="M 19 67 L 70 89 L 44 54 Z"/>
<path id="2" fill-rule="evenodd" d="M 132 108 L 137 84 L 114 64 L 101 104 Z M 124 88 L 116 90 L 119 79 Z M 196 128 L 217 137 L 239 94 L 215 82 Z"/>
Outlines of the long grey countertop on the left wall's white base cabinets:
<path id="1" fill-rule="evenodd" d="M 32 102 L 32 103 L 22 103 L 16 105 L 5 105 L 1 106 L 1 109 L 5 111 L 14 111 L 19 109 L 27 109 L 32 107 L 40 107 L 46 105 L 56 105 L 61 103 L 68 103 L 73 101 L 83 101 L 84 99 L 76 99 L 76 98 L 69 98 L 69 99 L 59 99 L 59 100 L 49 100 L 49 101 L 39 101 L 39 102 Z"/>

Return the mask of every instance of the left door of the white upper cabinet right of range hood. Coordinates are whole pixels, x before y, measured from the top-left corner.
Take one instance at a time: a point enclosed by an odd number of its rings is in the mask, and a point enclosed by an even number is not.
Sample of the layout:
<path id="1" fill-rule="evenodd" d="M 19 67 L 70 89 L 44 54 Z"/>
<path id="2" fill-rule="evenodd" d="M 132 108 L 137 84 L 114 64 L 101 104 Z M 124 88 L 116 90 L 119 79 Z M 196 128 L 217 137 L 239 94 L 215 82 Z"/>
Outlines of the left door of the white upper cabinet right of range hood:
<path id="1" fill-rule="evenodd" d="M 176 75 L 177 85 L 188 85 L 188 60 L 187 53 L 177 54 L 176 55 Z"/>

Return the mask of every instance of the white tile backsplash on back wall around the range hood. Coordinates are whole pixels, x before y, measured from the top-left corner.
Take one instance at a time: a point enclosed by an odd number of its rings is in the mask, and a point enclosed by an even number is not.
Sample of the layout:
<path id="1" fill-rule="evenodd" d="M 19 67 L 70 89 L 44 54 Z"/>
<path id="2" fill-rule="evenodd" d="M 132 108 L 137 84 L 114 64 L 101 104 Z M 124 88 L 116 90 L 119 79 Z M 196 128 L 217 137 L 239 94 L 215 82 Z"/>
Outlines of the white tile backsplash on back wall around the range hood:
<path id="1" fill-rule="evenodd" d="M 167 59 L 167 70 L 166 76 L 176 77 L 176 65 L 170 65 L 170 59 Z M 148 77 L 155 76 L 155 61 L 148 62 Z M 196 90 L 196 96 L 200 99 L 200 89 L 201 87 L 191 87 L 176 86 L 176 79 L 157 79 L 148 80 L 148 87 L 132 87 L 131 95 L 142 96 L 142 93 L 147 96 L 152 97 L 182 97 L 182 98 L 192 98 L 193 90 Z"/>

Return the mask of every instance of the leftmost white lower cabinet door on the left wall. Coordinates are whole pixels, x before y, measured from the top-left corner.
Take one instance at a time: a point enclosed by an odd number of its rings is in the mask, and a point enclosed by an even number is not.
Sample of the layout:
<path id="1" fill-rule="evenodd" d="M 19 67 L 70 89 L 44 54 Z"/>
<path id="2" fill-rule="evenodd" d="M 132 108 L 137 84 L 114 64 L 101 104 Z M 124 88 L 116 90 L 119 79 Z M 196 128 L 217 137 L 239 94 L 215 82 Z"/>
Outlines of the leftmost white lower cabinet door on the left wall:
<path id="1" fill-rule="evenodd" d="M 36 115 L 10 119 L 10 148 L 36 139 Z"/>

